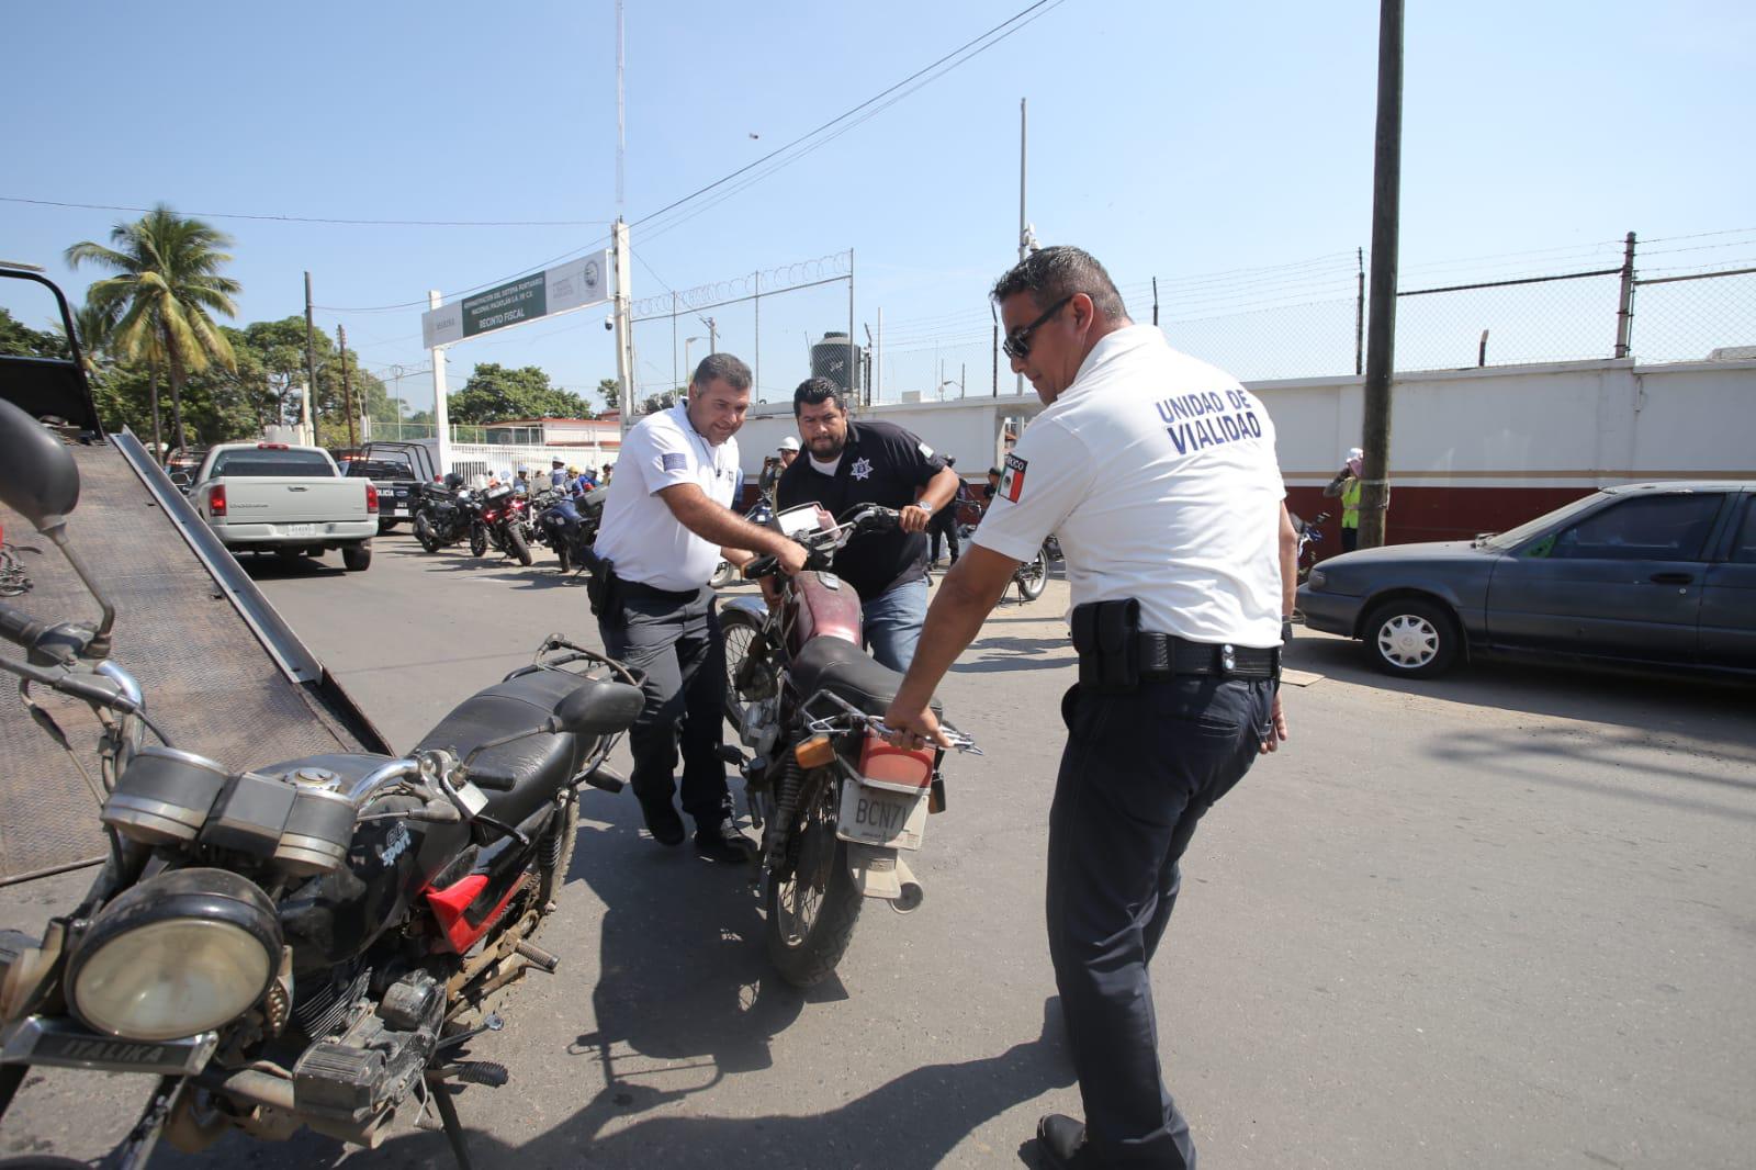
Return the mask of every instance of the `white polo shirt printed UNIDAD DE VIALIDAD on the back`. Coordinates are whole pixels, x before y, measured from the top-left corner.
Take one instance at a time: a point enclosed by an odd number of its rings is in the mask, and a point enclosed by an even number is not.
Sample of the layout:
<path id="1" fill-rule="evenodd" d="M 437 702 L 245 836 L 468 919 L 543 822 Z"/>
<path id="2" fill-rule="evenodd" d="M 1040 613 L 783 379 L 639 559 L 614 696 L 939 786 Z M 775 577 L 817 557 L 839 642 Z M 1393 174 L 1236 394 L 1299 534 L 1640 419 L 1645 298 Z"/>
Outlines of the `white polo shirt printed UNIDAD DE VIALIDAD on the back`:
<path id="1" fill-rule="evenodd" d="M 1018 439 L 975 543 L 1029 560 L 1055 532 L 1075 606 L 1138 597 L 1143 629 L 1278 646 L 1284 497 L 1257 397 L 1129 325 Z"/>

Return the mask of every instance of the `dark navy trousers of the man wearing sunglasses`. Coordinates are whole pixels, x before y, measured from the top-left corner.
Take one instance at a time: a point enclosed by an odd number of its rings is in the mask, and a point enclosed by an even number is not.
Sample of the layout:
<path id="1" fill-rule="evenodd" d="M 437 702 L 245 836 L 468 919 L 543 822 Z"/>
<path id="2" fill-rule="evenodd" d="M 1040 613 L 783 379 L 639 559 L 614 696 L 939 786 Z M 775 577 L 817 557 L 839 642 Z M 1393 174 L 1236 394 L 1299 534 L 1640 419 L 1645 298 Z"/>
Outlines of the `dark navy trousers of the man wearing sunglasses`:
<path id="1" fill-rule="evenodd" d="M 1068 690 L 1048 813 L 1048 952 L 1094 1165 L 1192 1170 L 1189 1123 L 1159 1072 L 1147 964 L 1201 815 L 1250 769 L 1273 683 L 1177 676 L 1129 694 Z"/>

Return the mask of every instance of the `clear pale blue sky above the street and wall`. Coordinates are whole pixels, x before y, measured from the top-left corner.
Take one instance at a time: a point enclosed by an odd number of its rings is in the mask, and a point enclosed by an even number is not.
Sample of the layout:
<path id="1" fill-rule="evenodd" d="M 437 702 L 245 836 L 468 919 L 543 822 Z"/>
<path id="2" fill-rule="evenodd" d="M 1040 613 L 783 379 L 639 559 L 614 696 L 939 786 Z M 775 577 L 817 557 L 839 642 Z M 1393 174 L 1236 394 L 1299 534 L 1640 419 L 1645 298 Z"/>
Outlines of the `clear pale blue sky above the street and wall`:
<path id="1" fill-rule="evenodd" d="M 1026 5 L 629 0 L 629 220 Z M 611 0 L 32 4 L 9 5 L 7 26 L 0 95 L 26 116 L 9 126 L 5 197 L 337 220 L 616 214 Z M 1756 9 L 1738 0 L 1410 4 L 1403 286 L 1614 264 L 1608 241 L 1628 230 L 1673 241 L 1679 265 L 1756 264 L 1751 44 Z M 1219 316 L 1268 304 L 1254 293 L 1340 306 L 1370 241 L 1375 67 L 1377 4 L 1050 2 L 801 162 L 637 227 L 636 297 L 852 248 L 857 332 L 882 309 L 894 348 L 885 395 L 931 394 L 939 362 L 985 388 L 983 293 L 1017 251 L 1029 98 L 1038 237 L 1105 260 L 1136 316 L 1152 278 L 1187 316 L 1210 293 Z M 44 264 L 79 293 L 93 274 L 68 272 L 61 249 L 121 218 L 0 202 L 0 258 Z M 379 371 L 427 365 L 420 309 L 365 309 L 534 271 L 608 230 L 214 223 L 235 237 L 241 321 L 300 311 L 309 269 L 320 323 L 344 323 Z M 7 299 L 42 323 L 40 306 Z M 709 314 L 722 348 L 750 358 L 752 306 Z M 1254 344 L 1282 318 L 1234 320 L 1234 341 Z M 790 392 L 808 337 L 846 321 L 845 285 L 764 297 L 764 395 Z M 685 316 L 676 336 L 704 332 Z M 643 392 L 667 385 L 683 348 L 669 321 L 643 325 L 637 346 Z M 572 388 L 615 372 L 602 311 L 457 346 L 453 388 L 474 362 L 534 362 Z M 428 385 L 400 390 L 418 408 Z"/>

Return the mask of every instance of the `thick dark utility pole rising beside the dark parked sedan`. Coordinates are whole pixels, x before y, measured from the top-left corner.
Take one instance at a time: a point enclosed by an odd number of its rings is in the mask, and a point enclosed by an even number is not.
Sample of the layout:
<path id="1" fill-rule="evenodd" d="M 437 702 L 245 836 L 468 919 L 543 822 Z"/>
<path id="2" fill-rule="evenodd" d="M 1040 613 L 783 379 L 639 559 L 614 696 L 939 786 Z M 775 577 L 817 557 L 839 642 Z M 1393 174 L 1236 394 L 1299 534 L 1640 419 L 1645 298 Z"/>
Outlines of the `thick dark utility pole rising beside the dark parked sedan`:
<path id="1" fill-rule="evenodd" d="M 1371 177 L 1371 321 L 1366 336 L 1359 546 L 1384 543 L 1391 497 L 1391 374 L 1403 169 L 1403 0 L 1378 0 L 1378 132 Z"/>

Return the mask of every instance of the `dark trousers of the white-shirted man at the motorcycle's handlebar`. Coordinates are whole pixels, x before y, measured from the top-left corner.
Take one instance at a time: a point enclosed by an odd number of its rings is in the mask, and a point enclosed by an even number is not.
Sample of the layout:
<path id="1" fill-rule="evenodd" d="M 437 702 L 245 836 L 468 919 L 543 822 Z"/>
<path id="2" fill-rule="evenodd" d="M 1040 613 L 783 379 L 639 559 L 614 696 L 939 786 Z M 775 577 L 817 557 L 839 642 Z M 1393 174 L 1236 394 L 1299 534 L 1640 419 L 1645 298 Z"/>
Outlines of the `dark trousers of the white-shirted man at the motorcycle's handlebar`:
<path id="1" fill-rule="evenodd" d="M 634 771 L 629 784 L 643 805 L 669 805 L 683 748 L 683 812 L 711 829 L 732 812 L 720 759 L 725 719 L 725 638 L 711 589 L 694 597 L 653 596 L 616 583 L 620 611 L 599 620 L 604 652 L 646 671 L 646 706 L 629 727 Z"/>

